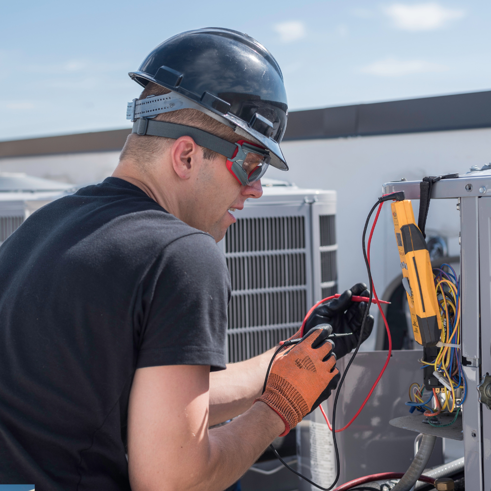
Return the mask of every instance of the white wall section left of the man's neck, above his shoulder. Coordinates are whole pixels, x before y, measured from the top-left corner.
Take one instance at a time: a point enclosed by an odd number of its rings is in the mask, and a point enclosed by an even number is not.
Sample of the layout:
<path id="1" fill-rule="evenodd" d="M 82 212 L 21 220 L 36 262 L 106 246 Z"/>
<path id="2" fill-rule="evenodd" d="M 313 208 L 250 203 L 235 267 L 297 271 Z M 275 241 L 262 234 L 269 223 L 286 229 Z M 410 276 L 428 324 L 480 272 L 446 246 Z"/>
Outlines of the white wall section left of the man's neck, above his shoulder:
<path id="1" fill-rule="evenodd" d="M 76 153 L 0 159 L 1 172 L 26 172 L 31 176 L 86 185 L 112 174 L 120 152 Z"/>

